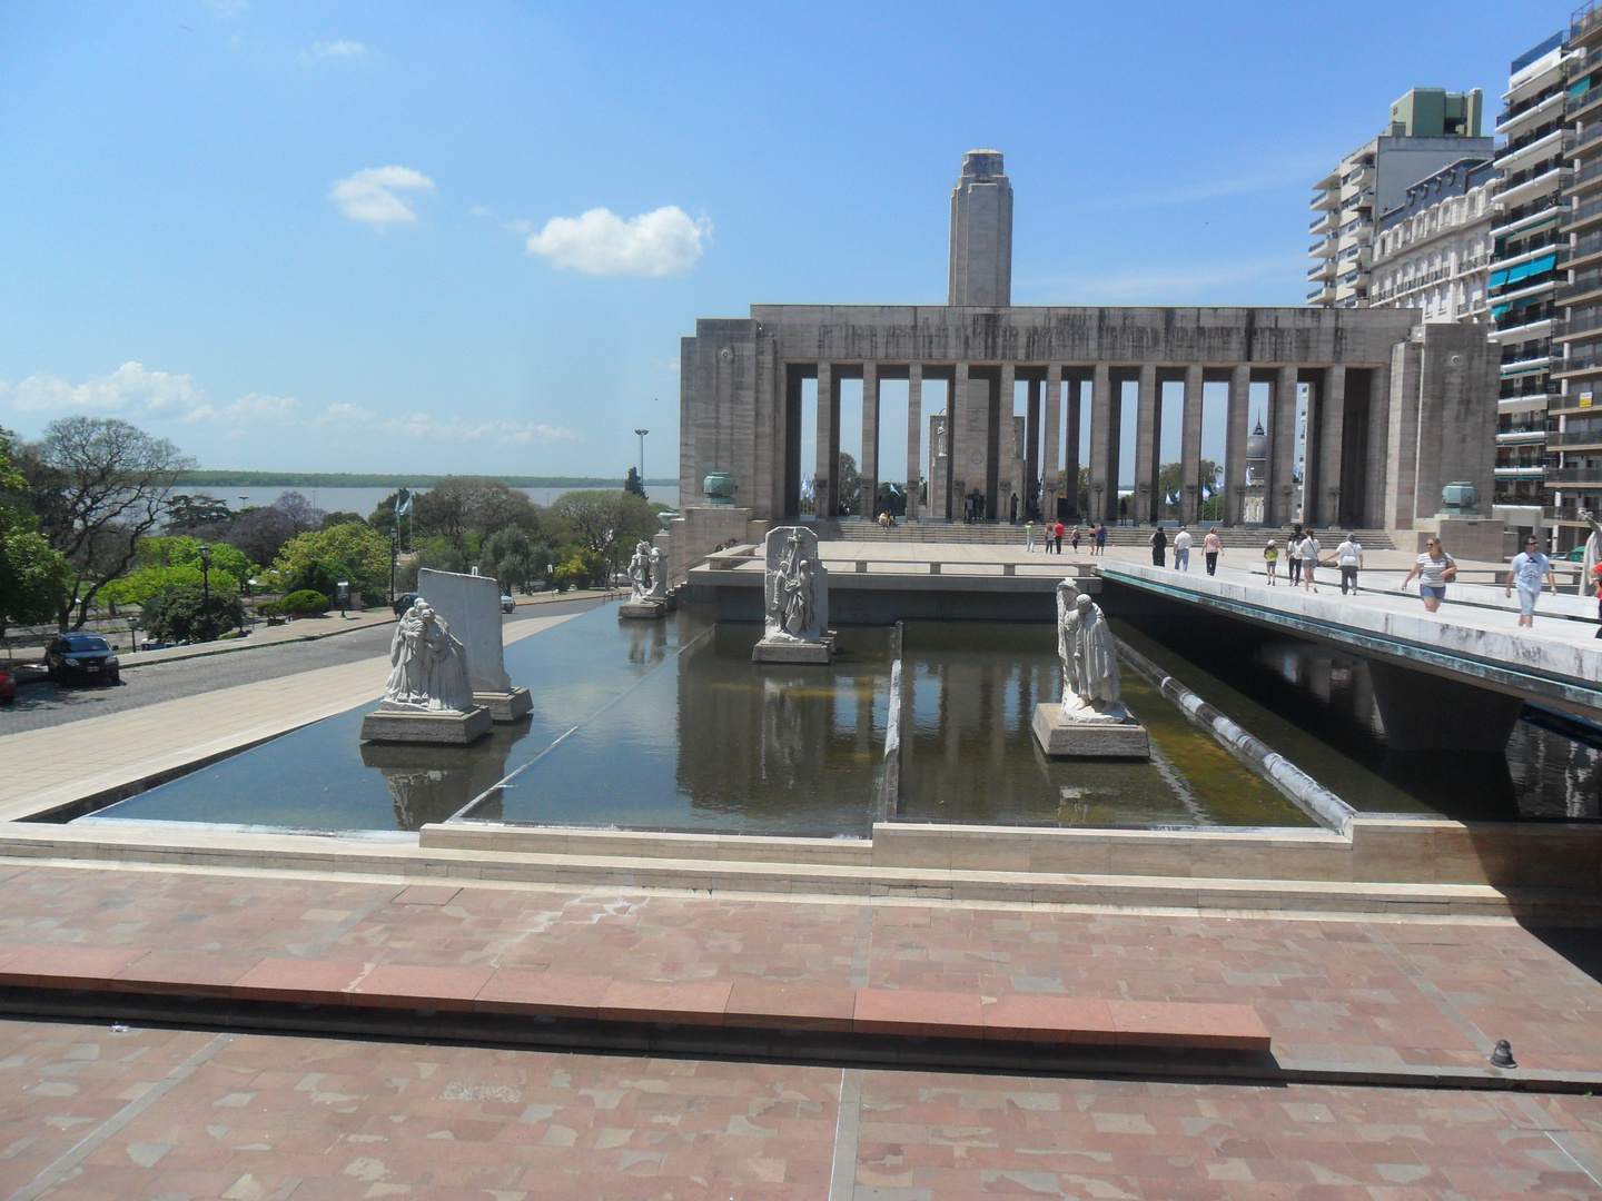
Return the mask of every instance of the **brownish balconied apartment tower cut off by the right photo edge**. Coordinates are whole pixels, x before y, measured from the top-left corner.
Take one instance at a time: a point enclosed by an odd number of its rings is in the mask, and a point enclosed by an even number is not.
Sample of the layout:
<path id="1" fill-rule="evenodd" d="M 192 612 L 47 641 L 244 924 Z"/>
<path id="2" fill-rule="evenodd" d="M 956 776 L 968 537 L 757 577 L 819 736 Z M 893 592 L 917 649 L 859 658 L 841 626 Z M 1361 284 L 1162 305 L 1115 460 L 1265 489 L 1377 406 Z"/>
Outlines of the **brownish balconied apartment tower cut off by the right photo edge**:
<path id="1" fill-rule="evenodd" d="M 1602 506 L 1602 8 L 1596 0 L 1573 14 L 1564 66 L 1568 178 L 1551 372 L 1564 392 L 1546 408 L 1544 480 L 1559 549 L 1589 533 L 1578 509 Z"/>

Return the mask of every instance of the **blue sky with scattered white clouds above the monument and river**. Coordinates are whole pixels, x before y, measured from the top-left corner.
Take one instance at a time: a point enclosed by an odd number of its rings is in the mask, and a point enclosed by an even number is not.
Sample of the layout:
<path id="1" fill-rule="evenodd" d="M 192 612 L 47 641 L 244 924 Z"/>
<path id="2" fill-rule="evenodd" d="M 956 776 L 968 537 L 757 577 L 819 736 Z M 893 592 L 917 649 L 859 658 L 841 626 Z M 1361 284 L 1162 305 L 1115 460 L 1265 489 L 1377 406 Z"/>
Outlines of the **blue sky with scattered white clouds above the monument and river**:
<path id="1" fill-rule="evenodd" d="M 0 424 L 671 476 L 695 317 L 944 303 L 963 151 L 1019 304 L 1299 304 L 1309 184 L 1570 8 L 0 5 Z"/>

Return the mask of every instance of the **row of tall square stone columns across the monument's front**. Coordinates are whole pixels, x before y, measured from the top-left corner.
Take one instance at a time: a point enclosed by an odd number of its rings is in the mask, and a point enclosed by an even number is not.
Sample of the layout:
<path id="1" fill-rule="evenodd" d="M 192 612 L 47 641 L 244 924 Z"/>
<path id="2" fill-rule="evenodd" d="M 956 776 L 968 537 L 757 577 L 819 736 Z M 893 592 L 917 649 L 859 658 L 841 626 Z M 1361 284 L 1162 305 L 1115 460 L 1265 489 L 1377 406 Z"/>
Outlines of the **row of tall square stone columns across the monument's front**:
<path id="1" fill-rule="evenodd" d="M 960 517 L 963 496 L 979 490 L 987 498 L 987 511 L 1000 516 L 1006 509 L 1001 485 L 1003 429 L 1014 412 L 1016 384 L 1025 384 L 1024 479 L 1011 480 L 1022 492 L 1028 482 L 1041 482 L 1041 511 L 1054 516 L 1053 500 L 1073 495 L 1080 472 L 1080 445 L 1085 420 L 1083 392 L 1089 391 L 1089 520 L 1118 517 L 1120 460 L 1123 437 L 1123 405 L 1133 391 L 1134 479 L 1128 516 L 1137 522 L 1153 520 L 1163 503 L 1158 490 L 1163 437 L 1163 384 L 1182 384 L 1181 408 L 1181 495 L 1179 520 L 1195 522 L 1205 500 L 1200 482 L 1202 461 L 1202 396 L 1203 384 L 1227 384 L 1226 444 L 1222 464 L 1222 524 L 1238 524 L 1246 493 L 1246 437 L 1251 416 L 1251 384 L 1267 384 L 1264 432 L 1269 442 L 1264 464 L 1266 479 L 1253 480 L 1264 488 L 1266 524 L 1282 525 L 1294 519 L 1314 524 L 1379 524 L 1379 514 L 1363 509 L 1363 479 L 1378 479 L 1381 464 L 1357 463 L 1384 453 L 1384 440 L 1368 437 L 1367 421 L 1360 442 L 1346 445 L 1349 426 L 1347 397 L 1355 397 L 1367 416 L 1375 397 L 1389 394 L 1389 364 L 1174 364 L 1174 362 L 884 362 L 884 360 L 787 360 L 782 365 L 791 412 L 799 410 L 801 383 L 817 381 L 817 456 L 814 466 L 815 508 L 820 514 L 839 512 L 839 436 L 841 381 L 862 381 L 862 490 L 859 512 L 873 517 L 881 479 L 894 479 L 879 463 L 879 384 L 884 380 L 907 381 L 907 461 L 908 517 Z M 923 383 L 940 380 L 947 386 L 947 445 L 931 440 L 928 447 L 929 501 L 920 506 L 918 480 L 924 476 L 923 447 Z M 1302 511 L 1296 503 L 1299 388 L 1307 388 L 1307 456 L 1306 496 Z M 799 415 L 799 413 L 798 413 Z M 942 440 L 945 440 L 942 439 Z M 945 452 L 942 455 L 942 450 Z M 940 463 L 940 460 L 945 460 Z M 955 464 L 955 468 L 953 468 Z M 1342 503 L 1342 492 L 1349 503 Z M 1072 504 L 1070 504 L 1072 508 Z"/>

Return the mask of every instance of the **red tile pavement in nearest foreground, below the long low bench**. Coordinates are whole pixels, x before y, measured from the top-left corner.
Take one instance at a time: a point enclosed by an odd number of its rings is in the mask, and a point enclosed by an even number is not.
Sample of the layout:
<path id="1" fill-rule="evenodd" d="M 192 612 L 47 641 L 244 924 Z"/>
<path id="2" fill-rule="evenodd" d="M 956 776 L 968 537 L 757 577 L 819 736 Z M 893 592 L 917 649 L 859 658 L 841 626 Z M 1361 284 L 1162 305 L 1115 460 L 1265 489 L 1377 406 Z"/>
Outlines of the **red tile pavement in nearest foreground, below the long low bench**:
<path id="1" fill-rule="evenodd" d="M 0 1188 L 58 1164 L 46 1201 L 815 1201 L 836 1163 L 855 1201 L 1602 1195 L 1584 1167 L 1602 1150 L 1592 1097 L 843 1073 L 5 1020 L 0 1044 Z"/>

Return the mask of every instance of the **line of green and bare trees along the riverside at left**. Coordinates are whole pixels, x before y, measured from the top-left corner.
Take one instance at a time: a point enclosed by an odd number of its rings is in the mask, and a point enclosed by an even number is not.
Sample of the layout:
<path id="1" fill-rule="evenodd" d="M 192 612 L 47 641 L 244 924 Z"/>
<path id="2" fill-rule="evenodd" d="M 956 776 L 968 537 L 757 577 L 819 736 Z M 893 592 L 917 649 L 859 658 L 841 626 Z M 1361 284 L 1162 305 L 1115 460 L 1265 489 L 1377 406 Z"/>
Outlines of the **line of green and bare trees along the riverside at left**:
<path id="1" fill-rule="evenodd" d="M 392 578 L 415 588 L 423 567 L 476 567 L 508 592 L 604 586 L 662 528 L 633 468 L 623 488 L 567 492 L 548 508 L 501 479 L 447 476 L 365 516 L 295 490 L 234 511 L 179 492 L 194 471 L 168 439 L 117 418 L 62 418 L 34 442 L 0 428 L 0 634 L 82 629 L 138 607 L 152 637 L 208 641 L 242 625 L 250 594 L 327 607 L 343 583 L 378 604 Z"/>

